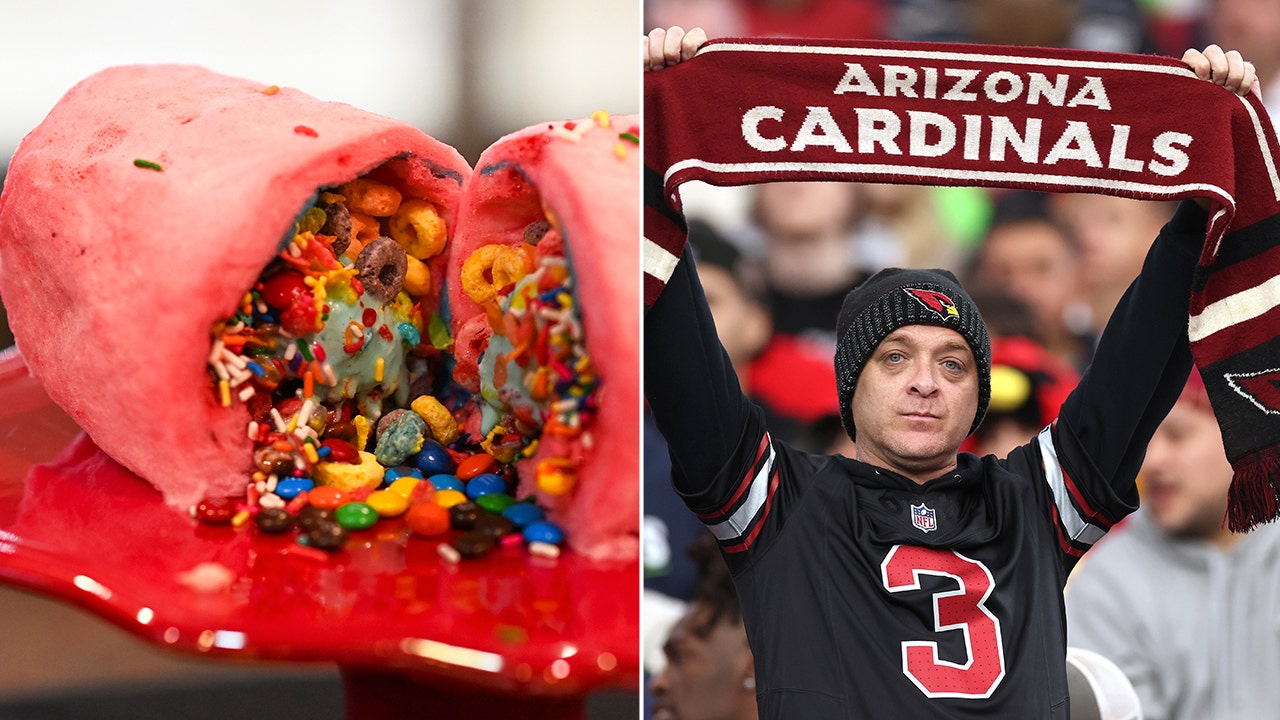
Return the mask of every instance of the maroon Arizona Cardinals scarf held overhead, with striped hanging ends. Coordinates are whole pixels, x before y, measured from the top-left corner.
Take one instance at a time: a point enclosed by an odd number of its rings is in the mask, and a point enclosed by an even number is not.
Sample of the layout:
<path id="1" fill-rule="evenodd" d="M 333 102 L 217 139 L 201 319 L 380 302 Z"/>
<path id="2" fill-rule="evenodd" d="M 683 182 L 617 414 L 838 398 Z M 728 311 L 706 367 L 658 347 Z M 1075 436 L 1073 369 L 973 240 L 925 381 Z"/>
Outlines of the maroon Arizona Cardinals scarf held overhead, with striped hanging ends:
<path id="1" fill-rule="evenodd" d="M 644 151 L 646 305 L 684 247 L 692 179 L 1210 199 L 1188 328 L 1235 469 L 1228 524 L 1280 516 L 1280 176 L 1256 96 L 1170 58 L 722 40 L 645 74 Z"/>

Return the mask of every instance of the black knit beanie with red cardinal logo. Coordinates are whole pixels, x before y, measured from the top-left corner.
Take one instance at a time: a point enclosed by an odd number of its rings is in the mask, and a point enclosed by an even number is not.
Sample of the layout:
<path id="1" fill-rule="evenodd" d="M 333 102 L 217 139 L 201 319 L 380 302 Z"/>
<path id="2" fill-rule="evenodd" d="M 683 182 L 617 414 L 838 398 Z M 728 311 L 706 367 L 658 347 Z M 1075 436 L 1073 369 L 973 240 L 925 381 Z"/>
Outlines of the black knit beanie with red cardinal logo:
<path id="1" fill-rule="evenodd" d="M 969 432 L 978 429 L 991 401 L 991 337 L 978 306 L 947 270 L 888 268 L 868 278 L 845 296 L 836 319 L 836 391 L 840 420 L 855 442 L 858 432 L 850 400 L 858 375 L 876 346 L 902 325 L 942 325 L 960 333 L 978 361 L 978 414 Z"/>

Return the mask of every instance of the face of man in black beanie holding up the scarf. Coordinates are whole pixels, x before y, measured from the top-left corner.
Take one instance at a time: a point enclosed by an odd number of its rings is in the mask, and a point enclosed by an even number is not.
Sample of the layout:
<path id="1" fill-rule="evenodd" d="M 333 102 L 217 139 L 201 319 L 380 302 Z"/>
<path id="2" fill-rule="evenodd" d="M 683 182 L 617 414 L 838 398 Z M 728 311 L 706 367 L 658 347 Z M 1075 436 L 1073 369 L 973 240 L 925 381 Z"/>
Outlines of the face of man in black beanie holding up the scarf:
<path id="1" fill-rule="evenodd" d="M 978 363 L 956 331 L 904 325 L 872 352 L 851 402 L 858 459 L 924 482 L 955 466 L 978 413 Z"/>

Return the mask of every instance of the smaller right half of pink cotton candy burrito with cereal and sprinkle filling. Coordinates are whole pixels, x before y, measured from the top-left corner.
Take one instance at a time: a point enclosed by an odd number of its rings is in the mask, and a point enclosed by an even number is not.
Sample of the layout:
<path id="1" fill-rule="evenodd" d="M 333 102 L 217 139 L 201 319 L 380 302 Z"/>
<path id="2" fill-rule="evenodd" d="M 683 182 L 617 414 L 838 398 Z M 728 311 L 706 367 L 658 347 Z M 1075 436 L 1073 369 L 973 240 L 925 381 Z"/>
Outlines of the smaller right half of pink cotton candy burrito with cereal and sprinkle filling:
<path id="1" fill-rule="evenodd" d="M 476 163 L 449 255 L 465 427 L 600 557 L 639 538 L 639 120 L 543 123 Z"/>

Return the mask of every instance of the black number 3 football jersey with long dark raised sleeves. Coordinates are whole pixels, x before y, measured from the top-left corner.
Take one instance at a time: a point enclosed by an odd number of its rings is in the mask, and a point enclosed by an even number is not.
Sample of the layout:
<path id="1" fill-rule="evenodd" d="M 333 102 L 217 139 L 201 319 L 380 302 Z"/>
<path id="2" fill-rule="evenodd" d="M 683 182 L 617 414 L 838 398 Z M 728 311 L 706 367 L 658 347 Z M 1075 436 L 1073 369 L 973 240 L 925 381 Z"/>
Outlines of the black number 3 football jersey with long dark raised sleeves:
<path id="1" fill-rule="evenodd" d="M 676 491 L 733 573 L 762 717 L 1066 719 L 1062 588 L 1137 509 L 1147 441 L 1190 370 L 1204 215 L 1184 204 L 1059 420 L 916 484 L 774 442 L 685 254 L 649 310 L 645 393 Z"/>

